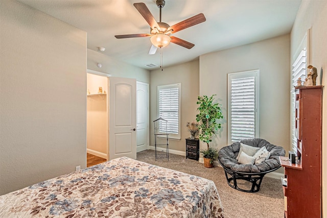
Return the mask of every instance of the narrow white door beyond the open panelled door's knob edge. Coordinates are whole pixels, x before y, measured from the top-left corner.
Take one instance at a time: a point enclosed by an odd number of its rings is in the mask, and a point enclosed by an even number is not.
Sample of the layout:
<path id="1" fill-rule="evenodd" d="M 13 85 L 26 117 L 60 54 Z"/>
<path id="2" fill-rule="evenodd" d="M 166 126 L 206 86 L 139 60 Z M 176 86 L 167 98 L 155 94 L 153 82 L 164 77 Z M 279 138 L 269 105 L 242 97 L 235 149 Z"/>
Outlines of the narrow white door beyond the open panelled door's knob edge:
<path id="1" fill-rule="evenodd" d="M 136 82 L 136 152 L 149 146 L 149 84 Z"/>

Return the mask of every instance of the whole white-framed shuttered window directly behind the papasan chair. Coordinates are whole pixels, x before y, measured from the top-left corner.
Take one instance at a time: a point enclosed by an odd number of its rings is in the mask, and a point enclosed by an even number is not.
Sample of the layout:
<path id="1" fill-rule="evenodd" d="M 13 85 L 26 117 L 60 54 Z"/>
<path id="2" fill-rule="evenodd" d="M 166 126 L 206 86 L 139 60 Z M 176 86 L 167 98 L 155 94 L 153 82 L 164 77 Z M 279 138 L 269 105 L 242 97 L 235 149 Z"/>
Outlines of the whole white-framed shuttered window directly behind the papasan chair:
<path id="1" fill-rule="evenodd" d="M 228 141 L 259 137 L 259 69 L 228 74 Z"/>

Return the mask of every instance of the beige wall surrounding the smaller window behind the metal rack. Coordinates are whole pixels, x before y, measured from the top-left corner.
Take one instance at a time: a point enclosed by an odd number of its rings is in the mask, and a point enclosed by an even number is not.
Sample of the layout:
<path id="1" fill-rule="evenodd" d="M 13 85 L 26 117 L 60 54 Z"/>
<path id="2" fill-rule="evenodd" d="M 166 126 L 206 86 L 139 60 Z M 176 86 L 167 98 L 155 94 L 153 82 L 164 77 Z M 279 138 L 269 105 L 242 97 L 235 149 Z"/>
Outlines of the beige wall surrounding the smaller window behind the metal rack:
<path id="1" fill-rule="evenodd" d="M 165 67 L 150 72 L 150 146 L 154 146 L 153 120 L 157 119 L 157 86 L 181 83 L 181 139 L 170 139 L 169 149 L 185 151 L 185 138 L 190 137 L 186 122 L 192 122 L 197 114 L 199 95 L 199 61 Z"/>

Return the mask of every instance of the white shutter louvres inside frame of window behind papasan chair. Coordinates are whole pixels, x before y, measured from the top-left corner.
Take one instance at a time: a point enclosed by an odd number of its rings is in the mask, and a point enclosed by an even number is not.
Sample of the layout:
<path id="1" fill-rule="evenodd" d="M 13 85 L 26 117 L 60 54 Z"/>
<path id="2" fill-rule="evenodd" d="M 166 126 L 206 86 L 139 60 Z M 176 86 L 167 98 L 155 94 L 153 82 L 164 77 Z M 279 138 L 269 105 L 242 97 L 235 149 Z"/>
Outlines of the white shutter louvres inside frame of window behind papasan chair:
<path id="1" fill-rule="evenodd" d="M 231 141 L 254 138 L 254 77 L 231 80 Z"/>

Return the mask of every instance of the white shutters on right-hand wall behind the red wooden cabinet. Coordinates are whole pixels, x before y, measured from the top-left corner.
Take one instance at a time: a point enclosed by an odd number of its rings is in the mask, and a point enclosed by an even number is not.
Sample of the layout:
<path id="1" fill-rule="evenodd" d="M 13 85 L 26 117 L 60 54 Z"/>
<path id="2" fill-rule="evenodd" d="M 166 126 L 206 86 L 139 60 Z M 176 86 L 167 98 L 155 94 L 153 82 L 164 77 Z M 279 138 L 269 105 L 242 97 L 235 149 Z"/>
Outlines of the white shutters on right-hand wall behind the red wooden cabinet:
<path id="1" fill-rule="evenodd" d="M 292 65 L 292 87 L 297 86 L 298 78 L 301 78 L 302 82 L 306 79 L 307 68 L 307 50 L 304 48 L 295 59 Z M 302 83 L 303 84 L 303 83 Z M 292 127 L 292 146 L 293 150 L 297 151 L 297 139 L 295 136 L 295 89 L 291 90 L 291 127 Z"/>

